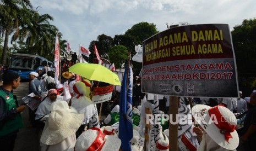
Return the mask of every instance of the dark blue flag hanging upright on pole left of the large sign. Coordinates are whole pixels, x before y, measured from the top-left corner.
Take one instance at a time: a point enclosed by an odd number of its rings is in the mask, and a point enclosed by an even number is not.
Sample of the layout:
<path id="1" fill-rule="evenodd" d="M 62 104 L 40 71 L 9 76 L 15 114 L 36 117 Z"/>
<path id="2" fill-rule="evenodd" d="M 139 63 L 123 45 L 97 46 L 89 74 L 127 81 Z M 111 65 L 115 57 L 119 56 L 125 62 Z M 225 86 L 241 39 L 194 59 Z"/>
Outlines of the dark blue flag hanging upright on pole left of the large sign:
<path id="1" fill-rule="evenodd" d="M 127 79 L 127 72 L 129 77 Z M 128 80 L 128 89 L 127 89 Z M 132 150 L 130 140 L 133 138 L 133 111 L 132 111 L 132 96 L 133 96 L 133 72 L 132 67 L 125 69 L 121 92 L 119 95 L 119 138 L 122 141 L 122 150 Z"/>

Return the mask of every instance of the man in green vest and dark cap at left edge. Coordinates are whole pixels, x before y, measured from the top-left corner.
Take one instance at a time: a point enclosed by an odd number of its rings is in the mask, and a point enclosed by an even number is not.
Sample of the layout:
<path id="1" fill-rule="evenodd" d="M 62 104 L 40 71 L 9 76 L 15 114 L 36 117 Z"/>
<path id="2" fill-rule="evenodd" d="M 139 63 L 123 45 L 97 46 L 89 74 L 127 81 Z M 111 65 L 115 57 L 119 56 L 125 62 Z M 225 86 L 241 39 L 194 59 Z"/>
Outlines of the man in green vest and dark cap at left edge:
<path id="1" fill-rule="evenodd" d="M 17 133 L 23 127 L 20 112 L 26 106 L 18 106 L 17 97 L 13 95 L 13 89 L 17 89 L 19 84 L 19 74 L 3 74 L 3 85 L 0 86 L 0 147 L 4 151 L 13 150 Z"/>

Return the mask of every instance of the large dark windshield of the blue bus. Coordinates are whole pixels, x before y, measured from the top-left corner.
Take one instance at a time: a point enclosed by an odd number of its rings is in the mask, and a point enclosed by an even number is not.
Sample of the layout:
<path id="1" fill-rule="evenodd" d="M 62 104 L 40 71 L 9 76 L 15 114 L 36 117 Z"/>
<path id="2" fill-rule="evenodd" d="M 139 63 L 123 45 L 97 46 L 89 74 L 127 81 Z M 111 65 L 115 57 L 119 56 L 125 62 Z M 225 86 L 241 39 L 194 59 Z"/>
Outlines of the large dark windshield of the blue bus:
<path id="1" fill-rule="evenodd" d="M 34 58 L 26 57 L 26 56 L 12 56 L 12 61 L 10 64 L 10 68 L 16 69 L 34 69 L 32 67 L 32 62 Z"/>

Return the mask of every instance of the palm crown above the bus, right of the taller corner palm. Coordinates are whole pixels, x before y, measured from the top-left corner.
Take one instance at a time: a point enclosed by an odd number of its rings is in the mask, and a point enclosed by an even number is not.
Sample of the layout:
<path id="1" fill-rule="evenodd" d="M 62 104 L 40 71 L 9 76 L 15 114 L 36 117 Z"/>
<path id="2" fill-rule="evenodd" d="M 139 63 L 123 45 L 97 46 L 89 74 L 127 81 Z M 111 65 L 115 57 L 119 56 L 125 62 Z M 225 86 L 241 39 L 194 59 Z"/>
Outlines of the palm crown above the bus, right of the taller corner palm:
<path id="1" fill-rule="evenodd" d="M 57 27 L 50 24 L 53 17 L 48 14 L 40 15 L 37 10 L 28 10 L 26 14 L 28 20 L 20 27 L 20 36 L 13 37 L 11 42 L 17 39 L 25 41 L 28 53 L 46 57 L 54 48 L 52 44 L 55 43 L 58 32 Z"/>

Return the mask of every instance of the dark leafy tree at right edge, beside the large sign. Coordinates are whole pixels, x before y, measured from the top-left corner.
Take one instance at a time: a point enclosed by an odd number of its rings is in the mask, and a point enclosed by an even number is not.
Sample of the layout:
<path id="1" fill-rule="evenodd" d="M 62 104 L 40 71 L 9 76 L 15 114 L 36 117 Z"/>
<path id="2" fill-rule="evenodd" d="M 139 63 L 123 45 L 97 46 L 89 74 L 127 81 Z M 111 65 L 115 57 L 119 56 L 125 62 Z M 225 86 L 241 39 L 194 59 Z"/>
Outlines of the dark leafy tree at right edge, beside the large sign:
<path id="1" fill-rule="evenodd" d="M 253 87 L 256 77 L 256 19 L 243 20 L 241 25 L 233 27 L 231 33 L 236 54 L 239 86 Z"/>

